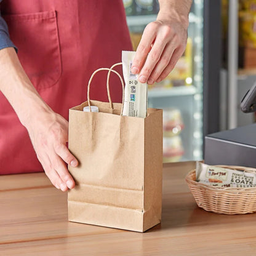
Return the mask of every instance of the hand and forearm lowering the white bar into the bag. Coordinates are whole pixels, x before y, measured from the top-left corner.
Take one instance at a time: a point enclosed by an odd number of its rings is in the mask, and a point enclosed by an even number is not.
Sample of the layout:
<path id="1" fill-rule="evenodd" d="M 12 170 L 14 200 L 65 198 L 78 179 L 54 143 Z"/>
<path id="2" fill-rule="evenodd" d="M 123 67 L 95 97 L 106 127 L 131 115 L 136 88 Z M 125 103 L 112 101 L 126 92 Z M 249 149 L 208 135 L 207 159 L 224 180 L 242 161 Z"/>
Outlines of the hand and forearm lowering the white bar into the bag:
<path id="1" fill-rule="evenodd" d="M 173 70 L 186 48 L 192 0 L 159 0 L 159 13 L 138 45 L 132 72 L 140 82 L 160 82 Z"/>

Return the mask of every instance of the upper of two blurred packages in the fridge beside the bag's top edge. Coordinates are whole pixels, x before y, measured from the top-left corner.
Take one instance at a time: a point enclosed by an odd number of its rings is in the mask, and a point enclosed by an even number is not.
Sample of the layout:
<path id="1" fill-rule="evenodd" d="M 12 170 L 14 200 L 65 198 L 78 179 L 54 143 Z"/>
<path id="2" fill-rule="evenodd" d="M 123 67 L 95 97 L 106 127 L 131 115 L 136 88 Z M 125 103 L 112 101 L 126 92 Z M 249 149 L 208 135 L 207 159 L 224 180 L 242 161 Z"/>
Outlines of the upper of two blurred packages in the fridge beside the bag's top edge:
<path id="1" fill-rule="evenodd" d="M 180 134 L 184 128 L 182 114 L 176 108 L 166 108 L 162 114 L 164 137 L 172 137 Z"/>

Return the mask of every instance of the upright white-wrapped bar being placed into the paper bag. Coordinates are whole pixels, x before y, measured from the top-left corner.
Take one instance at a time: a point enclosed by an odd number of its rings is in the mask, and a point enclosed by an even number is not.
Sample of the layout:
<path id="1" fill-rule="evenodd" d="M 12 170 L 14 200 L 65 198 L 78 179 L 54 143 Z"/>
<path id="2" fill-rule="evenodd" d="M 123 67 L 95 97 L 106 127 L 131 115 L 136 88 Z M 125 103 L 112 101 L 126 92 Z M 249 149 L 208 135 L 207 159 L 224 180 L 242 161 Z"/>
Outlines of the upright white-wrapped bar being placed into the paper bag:
<path id="1" fill-rule="evenodd" d="M 148 108 L 148 85 L 138 81 L 137 74 L 132 74 L 132 60 L 135 52 L 122 51 L 122 73 L 124 74 L 124 110 L 123 116 L 146 118 Z"/>

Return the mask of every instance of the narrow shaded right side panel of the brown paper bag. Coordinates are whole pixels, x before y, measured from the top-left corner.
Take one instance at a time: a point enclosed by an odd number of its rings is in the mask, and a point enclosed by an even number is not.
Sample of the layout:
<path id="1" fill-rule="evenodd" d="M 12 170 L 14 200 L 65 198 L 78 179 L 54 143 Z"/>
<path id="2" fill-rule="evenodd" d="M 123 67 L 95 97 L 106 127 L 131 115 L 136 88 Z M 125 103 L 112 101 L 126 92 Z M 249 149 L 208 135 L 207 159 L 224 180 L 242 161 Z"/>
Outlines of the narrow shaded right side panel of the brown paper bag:
<path id="1" fill-rule="evenodd" d="M 145 119 L 143 231 L 161 222 L 162 212 L 162 110 Z"/>

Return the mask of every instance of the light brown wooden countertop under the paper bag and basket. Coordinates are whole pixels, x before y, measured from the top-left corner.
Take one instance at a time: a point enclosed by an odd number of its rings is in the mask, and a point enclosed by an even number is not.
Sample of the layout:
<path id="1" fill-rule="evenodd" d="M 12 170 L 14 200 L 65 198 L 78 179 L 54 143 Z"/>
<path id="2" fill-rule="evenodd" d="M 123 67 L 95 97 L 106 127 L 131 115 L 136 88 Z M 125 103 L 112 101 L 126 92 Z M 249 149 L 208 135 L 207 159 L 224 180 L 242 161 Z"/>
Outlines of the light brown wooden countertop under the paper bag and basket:
<path id="1" fill-rule="evenodd" d="M 196 206 L 184 179 L 194 166 L 164 165 L 162 223 L 146 233 L 68 222 L 67 194 L 44 174 L 0 176 L 0 255 L 256 255 L 256 215 Z"/>

